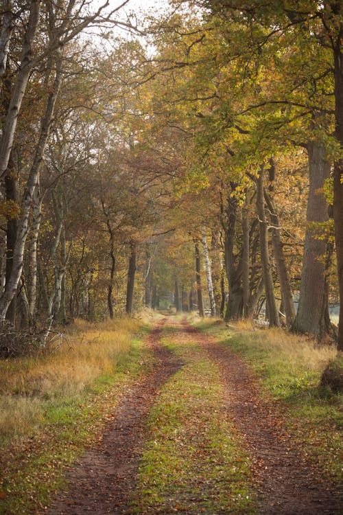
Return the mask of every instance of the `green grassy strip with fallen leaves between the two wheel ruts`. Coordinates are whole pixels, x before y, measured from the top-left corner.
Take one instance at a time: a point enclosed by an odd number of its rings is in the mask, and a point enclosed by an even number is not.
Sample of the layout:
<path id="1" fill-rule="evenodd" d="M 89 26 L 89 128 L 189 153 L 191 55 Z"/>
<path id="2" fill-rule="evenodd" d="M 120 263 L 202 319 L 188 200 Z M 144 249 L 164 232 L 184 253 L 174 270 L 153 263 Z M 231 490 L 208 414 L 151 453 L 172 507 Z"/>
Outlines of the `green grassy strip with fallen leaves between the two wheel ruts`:
<path id="1" fill-rule="evenodd" d="M 173 328 L 162 343 L 185 365 L 163 387 L 148 422 L 133 512 L 252 514 L 248 456 L 228 420 L 217 365 Z M 171 339 L 174 342 L 171 343 Z"/>

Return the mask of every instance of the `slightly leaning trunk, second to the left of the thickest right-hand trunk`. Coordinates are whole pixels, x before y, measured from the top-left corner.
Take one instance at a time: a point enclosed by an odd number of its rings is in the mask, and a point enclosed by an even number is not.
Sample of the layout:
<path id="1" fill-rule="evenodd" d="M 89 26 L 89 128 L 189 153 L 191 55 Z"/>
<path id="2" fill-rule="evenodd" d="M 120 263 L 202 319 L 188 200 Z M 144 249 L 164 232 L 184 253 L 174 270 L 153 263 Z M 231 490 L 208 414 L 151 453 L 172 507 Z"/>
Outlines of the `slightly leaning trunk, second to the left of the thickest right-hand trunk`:
<path id="1" fill-rule="evenodd" d="M 260 229 L 260 250 L 263 282 L 265 288 L 265 299 L 268 306 L 269 326 L 279 327 L 279 312 L 276 308 L 274 295 L 274 284 L 272 278 L 272 269 L 270 266 L 269 249 L 268 249 L 268 225 L 265 220 L 264 203 L 263 203 L 263 174 L 264 169 L 261 167 L 257 183 L 257 216 L 259 217 Z"/>

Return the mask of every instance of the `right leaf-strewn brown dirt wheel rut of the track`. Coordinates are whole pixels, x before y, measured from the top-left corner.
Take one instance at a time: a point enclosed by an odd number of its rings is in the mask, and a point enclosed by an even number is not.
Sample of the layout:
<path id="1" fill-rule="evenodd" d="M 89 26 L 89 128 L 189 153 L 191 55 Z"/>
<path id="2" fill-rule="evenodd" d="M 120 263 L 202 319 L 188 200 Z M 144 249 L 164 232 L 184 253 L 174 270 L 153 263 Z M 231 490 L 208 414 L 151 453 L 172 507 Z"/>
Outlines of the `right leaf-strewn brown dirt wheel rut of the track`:
<path id="1" fill-rule="evenodd" d="M 343 499 L 286 431 L 272 402 L 259 395 L 257 381 L 234 352 L 182 323 L 220 366 L 231 420 L 255 461 L 255 477 L 265 515 L 339 515 Z"/>

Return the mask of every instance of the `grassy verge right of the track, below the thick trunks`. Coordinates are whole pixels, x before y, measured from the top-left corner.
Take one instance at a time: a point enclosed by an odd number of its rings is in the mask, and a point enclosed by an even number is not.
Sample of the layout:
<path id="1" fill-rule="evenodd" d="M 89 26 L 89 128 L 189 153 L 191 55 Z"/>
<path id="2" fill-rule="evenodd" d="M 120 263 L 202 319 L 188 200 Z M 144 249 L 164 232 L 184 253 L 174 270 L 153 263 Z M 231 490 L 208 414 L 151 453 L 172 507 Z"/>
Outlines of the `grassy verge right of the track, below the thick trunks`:
<path id="1" fill-rule="evenodd" d="M 278 403 L 289 431 L 329 477 L 342 481 L 342 396 L 320 387 L 335 349 L 284 330 L 251 330 L 237 324 L 198 323 L 239 353 L 261 378 L 262 391 Z"/>

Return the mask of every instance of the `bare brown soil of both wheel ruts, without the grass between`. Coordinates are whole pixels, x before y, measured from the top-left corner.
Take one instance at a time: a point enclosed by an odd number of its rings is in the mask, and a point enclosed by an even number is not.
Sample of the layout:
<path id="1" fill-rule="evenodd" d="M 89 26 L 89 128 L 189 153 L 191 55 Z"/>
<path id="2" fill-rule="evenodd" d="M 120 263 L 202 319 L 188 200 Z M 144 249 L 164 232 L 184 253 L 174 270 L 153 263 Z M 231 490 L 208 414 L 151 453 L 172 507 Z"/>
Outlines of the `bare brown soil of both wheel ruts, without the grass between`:
<path id="1" fill-rule="evenodd" d="M 158 363 L 154 370 L 126 393 L 116 409 L 115 422 L 97 448 L 88 450 L 69 473 L 70 489 L 58 494 L 50 515 L 130 514 L 129 496 L 135 488 L 145 439 L 147 415 L 161 386 L 182 363 L 158 345 L 164 319 L 148 343 Z M 173 321 L 173 325 L 175 325 Z M 292 435 L 271 401 L 261 398 L 256 378 L 230 350 L 201 334 L 186 321 L 179 323 L 188 339 L 196 339 L 209 358 L 220 366 L 226 408 L 255 464 L 259 514 L 338 515 L 343 501 L 323 479 Z M 209 514 L 210 515 L 210 514 Z"/>

